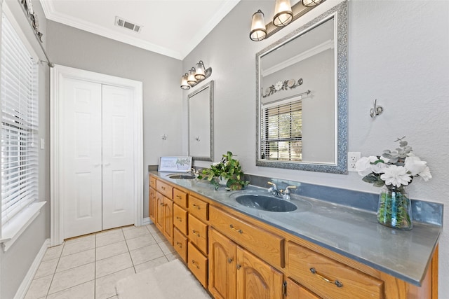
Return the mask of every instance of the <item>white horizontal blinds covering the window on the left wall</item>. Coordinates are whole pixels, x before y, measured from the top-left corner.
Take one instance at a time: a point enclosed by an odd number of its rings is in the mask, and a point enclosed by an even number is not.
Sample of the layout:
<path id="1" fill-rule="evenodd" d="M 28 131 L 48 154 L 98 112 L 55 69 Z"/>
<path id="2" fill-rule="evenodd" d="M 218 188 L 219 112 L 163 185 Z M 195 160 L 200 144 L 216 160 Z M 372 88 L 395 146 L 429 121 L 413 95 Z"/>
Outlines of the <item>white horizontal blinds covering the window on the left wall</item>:
<path id="1" fill-rule="evenodd" d="M 38 197 L 37 64 L 11 23 L 1 24 L 1 224 Z"/>

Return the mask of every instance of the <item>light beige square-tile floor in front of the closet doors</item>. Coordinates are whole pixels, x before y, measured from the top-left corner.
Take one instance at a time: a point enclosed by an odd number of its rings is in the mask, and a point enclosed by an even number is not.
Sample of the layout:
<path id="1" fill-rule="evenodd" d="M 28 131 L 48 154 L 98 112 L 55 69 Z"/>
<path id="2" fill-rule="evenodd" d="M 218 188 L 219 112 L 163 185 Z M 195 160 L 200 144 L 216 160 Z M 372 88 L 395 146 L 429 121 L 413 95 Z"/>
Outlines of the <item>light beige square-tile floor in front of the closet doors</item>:
<path id="1" fill-rule="evenodd" d="M 47 249 L 25 299 L 115 299 L 117 281 L 175 258 L 154 224 L 69 239 Z"/>

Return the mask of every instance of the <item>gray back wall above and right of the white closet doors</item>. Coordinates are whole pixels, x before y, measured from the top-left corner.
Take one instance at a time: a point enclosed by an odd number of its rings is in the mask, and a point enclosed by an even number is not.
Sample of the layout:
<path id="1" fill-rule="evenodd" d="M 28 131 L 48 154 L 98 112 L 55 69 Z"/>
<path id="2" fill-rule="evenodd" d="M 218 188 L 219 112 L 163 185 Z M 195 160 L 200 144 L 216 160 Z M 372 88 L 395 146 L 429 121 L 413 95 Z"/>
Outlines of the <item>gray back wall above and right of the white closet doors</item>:
<path id="1" fill-rule="evenodd" d="M 148 217 L 147 165 L 157 165 L 161 155 L 182 154 L 182 62 L 57 22 L 47 25 L 48 55 L 55 64 L 143 82 L 143 216 Z"/>

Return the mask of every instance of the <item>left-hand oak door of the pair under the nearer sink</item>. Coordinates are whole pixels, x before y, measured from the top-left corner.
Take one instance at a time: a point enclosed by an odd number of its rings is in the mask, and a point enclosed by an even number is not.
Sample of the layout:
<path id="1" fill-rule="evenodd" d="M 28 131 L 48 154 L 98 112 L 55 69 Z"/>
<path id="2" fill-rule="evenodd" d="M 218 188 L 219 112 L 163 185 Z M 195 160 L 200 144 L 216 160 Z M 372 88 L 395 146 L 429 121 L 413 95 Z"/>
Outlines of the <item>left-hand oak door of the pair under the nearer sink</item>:
<path id="1" fill-rule="evenodd" d="M 236 298 L 236 255 L 236 244 L 210 228 L 208 289 L 214 298 Z"/>

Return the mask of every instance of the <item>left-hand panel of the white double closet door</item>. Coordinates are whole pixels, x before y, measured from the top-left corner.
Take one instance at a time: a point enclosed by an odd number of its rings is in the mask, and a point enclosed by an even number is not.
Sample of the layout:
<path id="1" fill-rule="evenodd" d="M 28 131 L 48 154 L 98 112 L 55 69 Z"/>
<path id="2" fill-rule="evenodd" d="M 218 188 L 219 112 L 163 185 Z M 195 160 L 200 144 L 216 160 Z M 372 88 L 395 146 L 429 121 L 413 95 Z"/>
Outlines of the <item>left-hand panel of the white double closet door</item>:
<path id="1" fill-rule="evenodd" d="M 69 238 L 102 230 L 102 86 L 70 78 L 62 85 L 60 195 Z"/>

